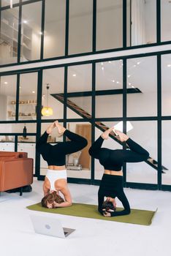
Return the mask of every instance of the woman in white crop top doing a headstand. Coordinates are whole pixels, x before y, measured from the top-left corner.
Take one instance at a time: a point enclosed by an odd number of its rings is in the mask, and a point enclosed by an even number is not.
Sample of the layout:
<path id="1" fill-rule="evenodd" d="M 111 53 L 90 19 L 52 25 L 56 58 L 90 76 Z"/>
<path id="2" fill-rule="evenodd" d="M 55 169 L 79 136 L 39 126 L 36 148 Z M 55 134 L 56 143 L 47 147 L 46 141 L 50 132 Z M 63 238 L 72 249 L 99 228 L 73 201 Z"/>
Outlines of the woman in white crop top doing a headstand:
<path id="1" fill-rule="evenodd" d="M 55 127 L 58 129 L 58 133 L 60 135 L 66 135 L 70 141 L 57 143 L 54 146 L 50 145 L 50 143 L 47 143 L 48 135 Z M 45 159 L 48 165 L 47 174 L 43 184 L 45 197 L 42 198 L 42 206 L 47 208 L 54 208 L 72 205 L 72 197 L 67 187 L 65 166 L 66 155 L 80 151 L 86 146 L 86 138 L 70 132 L 68 129 L 62 127 L 58 121 L 55 121 L 53 124 L 50 124 L 50 126 L 47 127 L 45 133 L 37 141 L 36 146 L 37 151 L 42 154 L 43 159 Z M 64 200 L 60 199 L 60 197 L 58 197 L 58 200 L 56 200 L 56 196 L 54 197 L 53 193 L 54 191 L 57 195 L 59 192 L 61 192 L 62 195 L 64 195 Z"/>

